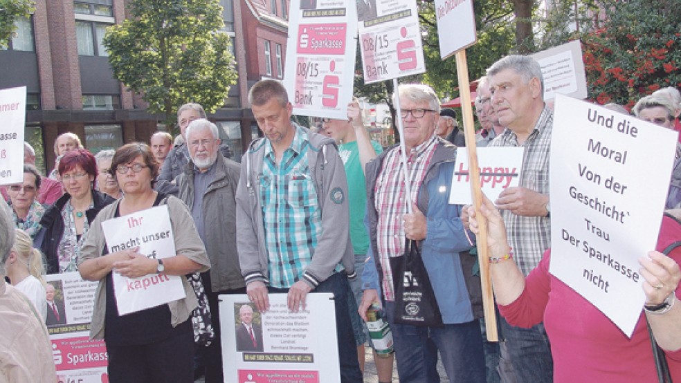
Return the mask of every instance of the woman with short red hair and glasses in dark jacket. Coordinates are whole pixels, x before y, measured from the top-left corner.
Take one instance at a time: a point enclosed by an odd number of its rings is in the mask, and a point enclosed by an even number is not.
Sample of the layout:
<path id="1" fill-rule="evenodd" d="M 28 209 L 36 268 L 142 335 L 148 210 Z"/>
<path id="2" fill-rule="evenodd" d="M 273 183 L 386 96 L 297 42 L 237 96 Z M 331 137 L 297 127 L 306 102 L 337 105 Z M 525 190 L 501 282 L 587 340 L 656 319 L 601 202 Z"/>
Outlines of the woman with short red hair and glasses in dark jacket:
<path id="1" fill-rule="evenodd" d="M 45 254 L 48 274 L 78 271 L 85 234 L 102 207 L 114 202 L 93 189 L 97 163 L 86 149 L 64 154 L 57 171 L 66 193 L 47 209 L 35 239 L 36 247 Z"/>

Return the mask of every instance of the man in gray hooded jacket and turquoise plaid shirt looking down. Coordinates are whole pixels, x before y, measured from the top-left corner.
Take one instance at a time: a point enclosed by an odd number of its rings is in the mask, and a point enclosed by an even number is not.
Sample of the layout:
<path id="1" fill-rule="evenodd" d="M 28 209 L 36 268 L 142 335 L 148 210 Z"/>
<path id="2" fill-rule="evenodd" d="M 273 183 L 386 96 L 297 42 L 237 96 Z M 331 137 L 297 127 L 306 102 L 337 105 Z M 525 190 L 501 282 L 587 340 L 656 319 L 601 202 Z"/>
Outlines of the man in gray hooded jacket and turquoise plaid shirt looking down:
<path id="1" fill-rule="evenodd" d="M 283 292 L 297 311 L 309 292 L 334 293 L 341 382 L 361 382 L 347 308 L 354 253 L 343 161 L 331 138 L 291 122 L 293 106 L 280 82 L 257 82 L 248 101 L 265 135 L 242 159 L 237 189 L 237 246 L 248 298 L 264 312 L 268 292 Z M 268 346 L 265 341 L 265 352 Z"/>

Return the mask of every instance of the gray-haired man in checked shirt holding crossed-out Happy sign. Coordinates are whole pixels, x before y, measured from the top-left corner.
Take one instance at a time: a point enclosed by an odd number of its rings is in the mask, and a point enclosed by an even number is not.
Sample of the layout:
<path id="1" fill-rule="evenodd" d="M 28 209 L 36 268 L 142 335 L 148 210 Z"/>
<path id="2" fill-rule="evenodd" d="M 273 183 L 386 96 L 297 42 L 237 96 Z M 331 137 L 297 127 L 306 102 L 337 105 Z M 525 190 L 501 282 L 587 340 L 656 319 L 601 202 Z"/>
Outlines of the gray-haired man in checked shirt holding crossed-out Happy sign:
<path id="1" fill-rule="evenodd" d="M 488 70 L 491 104 L 507 129 L 489 147 L 523 147 L 520 186 L 495 201 L 501 210 L 518 267 L 527 275 L 551 243 L 549 149 L 553 111 L 543 99 L 541 67 L 531 57 L 510 55 Z M 511 326 L 502 319 L 509 357 L 518 382 L 552 382 L 553 360 L 543 324 Z"/>

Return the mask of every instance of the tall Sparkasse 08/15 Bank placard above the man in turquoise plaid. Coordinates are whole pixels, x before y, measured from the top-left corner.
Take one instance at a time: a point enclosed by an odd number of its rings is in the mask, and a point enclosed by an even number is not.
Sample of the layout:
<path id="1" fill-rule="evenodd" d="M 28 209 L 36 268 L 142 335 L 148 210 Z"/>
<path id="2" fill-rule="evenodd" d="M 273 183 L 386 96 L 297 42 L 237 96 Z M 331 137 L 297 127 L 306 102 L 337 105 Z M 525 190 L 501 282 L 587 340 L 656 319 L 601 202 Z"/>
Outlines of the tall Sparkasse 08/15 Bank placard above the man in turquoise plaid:
<path id="1" fill-rule="evenodd" d="M 289 10 L 284 86 L 293 113 L 346 119 L 357 48 L 354 1 L 292 0 Z"/>

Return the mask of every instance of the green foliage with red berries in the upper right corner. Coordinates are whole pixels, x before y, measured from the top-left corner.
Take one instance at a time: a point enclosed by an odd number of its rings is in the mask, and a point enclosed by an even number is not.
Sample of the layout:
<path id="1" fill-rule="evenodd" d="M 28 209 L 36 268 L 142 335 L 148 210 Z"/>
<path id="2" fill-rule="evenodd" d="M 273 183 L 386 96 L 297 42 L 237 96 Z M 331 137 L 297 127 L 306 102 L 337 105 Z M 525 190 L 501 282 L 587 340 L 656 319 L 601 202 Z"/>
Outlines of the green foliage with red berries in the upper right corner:
<path id="1" fill-rule="evenodd" d="M 605 0 L 606 18 L 581 35 L 590 98 L 630 108 L 681 86 L 681 0 Z"/>

